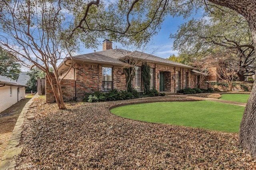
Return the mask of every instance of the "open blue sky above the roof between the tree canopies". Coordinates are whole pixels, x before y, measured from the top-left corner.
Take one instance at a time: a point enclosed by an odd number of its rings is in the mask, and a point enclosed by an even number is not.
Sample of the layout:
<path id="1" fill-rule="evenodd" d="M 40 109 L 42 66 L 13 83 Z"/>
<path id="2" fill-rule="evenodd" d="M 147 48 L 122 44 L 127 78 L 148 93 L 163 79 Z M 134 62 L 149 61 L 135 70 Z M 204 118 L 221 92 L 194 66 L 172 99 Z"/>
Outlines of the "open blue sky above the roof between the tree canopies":
<path id="1" fill-rule="evenodd" d="M 193 17 L 198 18 L 200 16 L 200 14 L 195 14 L 194 16 L 191 16 L 189 19 Z M 156 55 L 162 58 L 168 58 L 172 54 L 178 54 L 178 51 L 174 51 L 172 49 L 174 39 L 170 39 L 169 36 L 170 33 L 176 33 L 176 31 L 178 30 L 178 26 L 186 21 L 188 20 L 184 20 L 183 17 L 173 18 L 172 16 L 168 16 L 162 23 L 162 27 L 159 30 L 158 34 L 152 37 L 152 40 L 150 41 L 150 45 L 148 47 L 149 51 L 147 51 L 146 53 L 150 53 L 152 55 Z M 122 47 L 120 43 L 113 42 L 113 48 L 115 48 L 116 46 L 117 48 L 126 49 L 125 47 Z M 79 54 L 93 53 L 94 50 L 102 51 L 102 47 L 98 47 L 98 49 L 85 49 L 81 47 Z"/>

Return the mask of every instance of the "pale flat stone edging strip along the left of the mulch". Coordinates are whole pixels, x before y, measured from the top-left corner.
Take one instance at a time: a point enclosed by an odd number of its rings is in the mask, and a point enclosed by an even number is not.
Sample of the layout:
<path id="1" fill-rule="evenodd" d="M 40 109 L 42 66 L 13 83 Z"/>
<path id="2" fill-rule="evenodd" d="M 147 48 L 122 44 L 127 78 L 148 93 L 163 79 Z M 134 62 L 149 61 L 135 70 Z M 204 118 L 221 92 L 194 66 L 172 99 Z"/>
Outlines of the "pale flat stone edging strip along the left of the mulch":
<path id="1" fill-rule="evenodd" d="M 36 94 L 33 98 L 37 96 L 38 95 Z M 20 155 L 23 149 L 23 147 L 19 147 L 18 145 L 20 144 L 21 133 L 23 130 L 22 125 L 24 123 L 24 120 L 26 119 L 24 116 L 28 112 L 28 109 L 33 102 L 33 98 L 31 98 L 28 103 L 26 103 L 17 119 L 16 125 L 14 126 L 14 129 L 6 146 L 6 150 L 4 151 L 2 160 L 0 162 L 0 170 L 15 170 L 15 159 L 17 156 Z"/>

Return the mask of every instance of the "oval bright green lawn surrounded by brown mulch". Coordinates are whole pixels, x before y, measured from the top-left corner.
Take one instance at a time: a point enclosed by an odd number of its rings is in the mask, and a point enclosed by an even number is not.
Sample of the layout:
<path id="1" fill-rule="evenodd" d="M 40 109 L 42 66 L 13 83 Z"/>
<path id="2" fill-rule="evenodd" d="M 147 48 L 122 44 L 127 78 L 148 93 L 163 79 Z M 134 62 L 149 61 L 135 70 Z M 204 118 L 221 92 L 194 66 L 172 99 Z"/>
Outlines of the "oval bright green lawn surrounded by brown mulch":
<path id="1" fill-rule="evenodd" d="M 110 111 L 120 117 L 151 123 L 238 133 L 244 107 L 212 101 L 157 102 L 121 106 Z"/>

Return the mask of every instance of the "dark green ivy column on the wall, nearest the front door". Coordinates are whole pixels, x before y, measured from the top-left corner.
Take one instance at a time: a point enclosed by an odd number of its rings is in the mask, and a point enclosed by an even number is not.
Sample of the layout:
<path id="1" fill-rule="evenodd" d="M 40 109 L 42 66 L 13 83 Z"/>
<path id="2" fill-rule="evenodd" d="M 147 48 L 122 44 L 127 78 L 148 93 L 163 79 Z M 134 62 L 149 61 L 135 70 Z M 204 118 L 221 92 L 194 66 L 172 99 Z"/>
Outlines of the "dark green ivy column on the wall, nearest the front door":
<path id="1" fill-rule="evenodd" d="M 147 63 L 142 64 L 142 81 L 144 86 L 144 93 L 148 94 L 150 92 L 150 66 Z"/>

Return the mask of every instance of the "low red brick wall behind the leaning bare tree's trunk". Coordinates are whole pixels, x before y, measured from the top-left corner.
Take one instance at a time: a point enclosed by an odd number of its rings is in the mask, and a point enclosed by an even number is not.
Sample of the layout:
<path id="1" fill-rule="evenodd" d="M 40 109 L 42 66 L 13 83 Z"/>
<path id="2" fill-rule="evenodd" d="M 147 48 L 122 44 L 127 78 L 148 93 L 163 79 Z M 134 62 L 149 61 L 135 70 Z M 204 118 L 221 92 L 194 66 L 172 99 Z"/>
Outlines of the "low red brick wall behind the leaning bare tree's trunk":
<path id="1" fill-rule="evenodd" d="M 46 93 L 46 103 L 53 103 L 56 102 L 52 86 L 46 76 L 46 83 L 45 83 L 45 93 Z M 56 84 L 56 80 L 54 79 L 54 83 Z M 63 79 L 60 83 L 62 89 L 62 96 L 64 101 L 69 101 L 74 99 L 75 97 L 75 80 Z M 55 85 L 57 87 L 57 85 Z"/>

